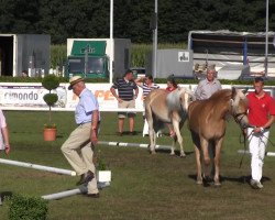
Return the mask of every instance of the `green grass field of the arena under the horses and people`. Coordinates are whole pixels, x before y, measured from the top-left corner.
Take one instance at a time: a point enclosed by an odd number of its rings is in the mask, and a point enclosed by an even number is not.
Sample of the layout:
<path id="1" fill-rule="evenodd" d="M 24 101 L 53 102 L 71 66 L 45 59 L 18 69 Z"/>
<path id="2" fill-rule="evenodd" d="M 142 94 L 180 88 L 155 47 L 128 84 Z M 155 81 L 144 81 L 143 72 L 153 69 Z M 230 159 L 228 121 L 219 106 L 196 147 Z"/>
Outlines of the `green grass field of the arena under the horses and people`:
<path id="1" fill-rule="evenodd" d="M 55 142 L 43 141 L 43 124 L 47 112 L 7 111 L 12 151 L 10 160 L 69 168 L 61 153 L 61 145 L 75 128 L 73 112 L 54 112 L 58 127 Z M 142 138 L 142 117 L 136 117 L 135 136 L 117 136 L 117 114 L 103 113 L 101 141 L 148 143 Z M 100 191 L 99 199 L 82 195 L 50 201 L 48 219 L 274 219 L 275 218 L 275 157 L 266 157 L 264 188 L 254 190 L 244 177 L 250 175 L 250 158 L 243 165 L 237 153 L 240 129 L 229 122 L 221 158 L 222 186 L 196 185 L 196 165 L 189 131 L 182 130 L 187 157 L 170 156 L 162 151 L 150 155 L 144 148 L 98 145 L 112 170 L 111 186 Z M 274 131 L 271 141 L 275 142 Z M 158 144 L 169 144 L 168 136 L 157 139 Z M 270 144 L 268 151 L 275 152 Z M 7 156 L 1 153 L 1 157 Z M 76 188 L 78 177 L 28 169 L 0 164 L 0 191 L 42 196 Z M 7 204 L 0 206 L 0 219 L 8 219 Z"/>

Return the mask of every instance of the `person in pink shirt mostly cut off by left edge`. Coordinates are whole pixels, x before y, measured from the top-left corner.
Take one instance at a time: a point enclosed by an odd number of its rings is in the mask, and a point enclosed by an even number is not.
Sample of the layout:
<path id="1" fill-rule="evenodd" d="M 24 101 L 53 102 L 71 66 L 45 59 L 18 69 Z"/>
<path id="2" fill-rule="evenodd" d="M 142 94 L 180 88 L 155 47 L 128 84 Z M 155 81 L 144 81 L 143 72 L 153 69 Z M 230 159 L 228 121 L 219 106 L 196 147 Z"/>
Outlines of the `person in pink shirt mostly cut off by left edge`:
<path id="1" fill-rule="evenodd" d="M 4 153 L 8 155 L 11 151 L 9 130 L 8 130 L 8 125 L 6 122 L 6 118 L 1 109 L 0 109 L 0 125 L 1 125 L 0 150 L 3 150 Z"/>

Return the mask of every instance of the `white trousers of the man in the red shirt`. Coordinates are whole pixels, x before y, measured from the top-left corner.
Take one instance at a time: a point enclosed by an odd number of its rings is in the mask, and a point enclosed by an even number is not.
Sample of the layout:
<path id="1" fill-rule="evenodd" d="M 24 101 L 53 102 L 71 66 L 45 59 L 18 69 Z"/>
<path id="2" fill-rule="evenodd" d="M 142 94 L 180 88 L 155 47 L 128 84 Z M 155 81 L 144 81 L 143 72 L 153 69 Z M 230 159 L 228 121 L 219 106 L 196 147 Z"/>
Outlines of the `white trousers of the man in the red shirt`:
<path id="1" fill-rule="evenodd" d="M 251 176 L 252 179 L 260 182 L 263 175 L 265 148 L 267 146 L 270 131 L 254 133 L 252 128 L 248 129 L 248 138 L 251 153 Z"/>

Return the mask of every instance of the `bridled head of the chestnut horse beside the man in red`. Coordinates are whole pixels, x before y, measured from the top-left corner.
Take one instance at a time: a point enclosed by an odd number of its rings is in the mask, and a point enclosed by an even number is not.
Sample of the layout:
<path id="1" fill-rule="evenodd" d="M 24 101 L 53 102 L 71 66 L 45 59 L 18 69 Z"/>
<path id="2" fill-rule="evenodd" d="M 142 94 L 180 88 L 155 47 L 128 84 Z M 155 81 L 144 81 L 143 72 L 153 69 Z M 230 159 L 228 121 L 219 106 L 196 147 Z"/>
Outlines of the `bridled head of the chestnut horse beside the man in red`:
<path id="1" fill-rule="evenodd" d="M 248 99 L 244 92 L 232 87 L 231 92 L 231 114 L 242 129 L 250 127 L 248 118 Z"/>

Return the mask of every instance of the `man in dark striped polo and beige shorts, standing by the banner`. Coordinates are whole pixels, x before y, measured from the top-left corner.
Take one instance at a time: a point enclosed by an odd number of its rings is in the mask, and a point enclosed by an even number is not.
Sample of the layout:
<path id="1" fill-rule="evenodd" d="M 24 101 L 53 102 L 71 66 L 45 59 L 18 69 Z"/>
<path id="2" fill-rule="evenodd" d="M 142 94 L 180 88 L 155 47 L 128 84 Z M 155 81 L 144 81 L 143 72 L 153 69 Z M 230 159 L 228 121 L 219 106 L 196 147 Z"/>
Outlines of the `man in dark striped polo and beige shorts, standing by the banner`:
<path id="1" fill-rule="evenodd" d="M 139 88 L 134 82 L 134 76 L 132 70 L 127 70 L 123 78 L 118 79 L 112 85 L 110 91 L 118 100 L 119 108 L 135 108 L 135 99 L 139 95 Z M 118 90 L 118 94 L 116 91 Z M 127 112 L 119 112 L 119 135 L 122 135 L 124 118 L 127 117 Z M 130 134 L 134 134 L 134 117 L 135 112 L 129 112 L 129 131 Z"/>

